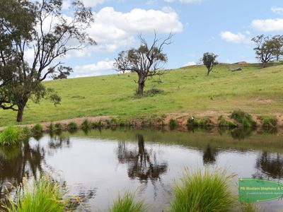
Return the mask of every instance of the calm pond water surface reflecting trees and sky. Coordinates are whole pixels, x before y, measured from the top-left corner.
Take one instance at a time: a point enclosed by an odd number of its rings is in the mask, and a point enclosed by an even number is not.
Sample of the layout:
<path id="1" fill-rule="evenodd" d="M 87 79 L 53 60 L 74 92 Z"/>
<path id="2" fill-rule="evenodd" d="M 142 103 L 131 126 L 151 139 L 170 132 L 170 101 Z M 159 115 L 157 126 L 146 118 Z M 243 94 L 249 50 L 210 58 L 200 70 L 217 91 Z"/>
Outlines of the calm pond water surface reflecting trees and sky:
<path id="1" fill-rule="evenodd" d="M 162 211 L 184 167 L 204 166 L 235 172 L 235 182 L 238 177 L 283 182 L 283 136 L 241 129 L 103 129 L 44 135 L 16 148 L 0 147 L 0 200 L 10 183 L 53 170 L 71 194 L 83 197 L 85 211 L 107 210 L 117 194 L 127 190 L 137 192 L 150 211 Z M 265 211 L 282 211 L 283 200 L 260 205 Z"/>

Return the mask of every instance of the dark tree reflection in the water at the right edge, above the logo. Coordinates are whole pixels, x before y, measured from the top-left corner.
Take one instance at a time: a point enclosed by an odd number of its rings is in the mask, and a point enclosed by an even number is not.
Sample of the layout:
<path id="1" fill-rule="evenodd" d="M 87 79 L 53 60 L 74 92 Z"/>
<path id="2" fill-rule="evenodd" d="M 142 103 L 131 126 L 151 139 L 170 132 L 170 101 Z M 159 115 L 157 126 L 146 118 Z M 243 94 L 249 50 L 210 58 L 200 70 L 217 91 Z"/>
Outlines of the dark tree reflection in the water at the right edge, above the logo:
<path id="1" fill-rule="evenodd" d="M 258 156 L 255 168 L 258 171 L 253 175 L 254 178 L 272 177 L 273 179 L 282 179 L 283 155 L 264 151 Z"/>

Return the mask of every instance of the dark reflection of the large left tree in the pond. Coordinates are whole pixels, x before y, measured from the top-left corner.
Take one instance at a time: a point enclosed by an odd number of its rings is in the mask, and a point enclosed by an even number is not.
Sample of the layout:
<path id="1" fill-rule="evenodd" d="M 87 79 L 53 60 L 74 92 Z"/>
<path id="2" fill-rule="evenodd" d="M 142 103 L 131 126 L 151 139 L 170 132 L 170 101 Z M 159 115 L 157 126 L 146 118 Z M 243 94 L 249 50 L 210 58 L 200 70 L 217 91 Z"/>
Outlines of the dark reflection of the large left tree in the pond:
<path id="1" fill-rule="evenodd" d="M 0 146 L 0 201 L 4 199 L 6 189 L 21 184 L 23 177 L 37 179 L 45 170 L 46 154 L 50 155 L 62 146 L 69 146 L 69 138 L 50 136 L 49 148 L 43 148 L 37 141 L 24 141 L 16 147 Z"/>

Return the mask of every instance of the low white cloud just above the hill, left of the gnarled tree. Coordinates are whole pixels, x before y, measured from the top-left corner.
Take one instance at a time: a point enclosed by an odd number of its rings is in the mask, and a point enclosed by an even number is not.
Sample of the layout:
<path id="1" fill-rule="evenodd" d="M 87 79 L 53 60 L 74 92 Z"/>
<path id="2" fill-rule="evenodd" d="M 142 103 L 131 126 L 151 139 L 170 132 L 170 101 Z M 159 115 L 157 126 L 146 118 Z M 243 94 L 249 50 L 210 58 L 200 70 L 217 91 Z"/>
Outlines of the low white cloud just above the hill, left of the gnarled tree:
<path id="1" fill-rule="evenodd" d="M 111 71 L 114 69 L 115 61 L 105 59 L 103 61 L 98 61 L 96 64 L 86 64 L 83 66 L 74 67 L 74 75 L 72 77 L 82 77 L 82 76 L 98 76 L 102 75 L 105 71 Z"/>

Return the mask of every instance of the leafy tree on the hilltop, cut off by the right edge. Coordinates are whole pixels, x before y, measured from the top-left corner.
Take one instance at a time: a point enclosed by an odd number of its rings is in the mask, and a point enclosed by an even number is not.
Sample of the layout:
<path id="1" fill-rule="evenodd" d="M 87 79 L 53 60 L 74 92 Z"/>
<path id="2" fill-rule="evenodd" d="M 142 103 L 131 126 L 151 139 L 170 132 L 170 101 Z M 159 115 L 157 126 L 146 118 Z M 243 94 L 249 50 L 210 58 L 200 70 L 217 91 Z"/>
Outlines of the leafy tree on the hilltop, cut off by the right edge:
<path id="1" fill-rule="evenodd" d="M 255 54 L 258 61 L 262 63 L 263 67 L 267 66 L 270 61 L 279 60 L 282 56 L 283 38 L 281 35 L 274 37 L 258 35 L 253 37 L 255 42 Z"/>

